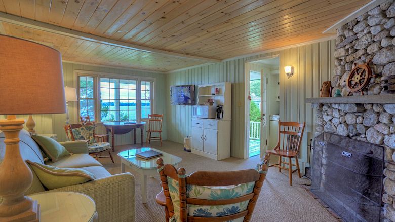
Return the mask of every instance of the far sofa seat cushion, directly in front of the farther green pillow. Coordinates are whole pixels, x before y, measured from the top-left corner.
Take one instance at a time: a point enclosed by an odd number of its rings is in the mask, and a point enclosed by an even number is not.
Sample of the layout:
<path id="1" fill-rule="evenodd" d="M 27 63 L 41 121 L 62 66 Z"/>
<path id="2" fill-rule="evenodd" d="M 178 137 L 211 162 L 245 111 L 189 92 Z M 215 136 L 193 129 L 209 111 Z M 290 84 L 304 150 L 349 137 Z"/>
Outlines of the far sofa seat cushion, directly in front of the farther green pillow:
<path id="1" fill-rule="evenodd" d="M 46 161 L 45 164 L 59 167 L 59 168 L 81 168 L 89 166 L 103 166 L 95 158 L 91 157 L 89 154 L 73 154 L 70 156 L 65 156 L 56 162 L 50 160 Z"/>

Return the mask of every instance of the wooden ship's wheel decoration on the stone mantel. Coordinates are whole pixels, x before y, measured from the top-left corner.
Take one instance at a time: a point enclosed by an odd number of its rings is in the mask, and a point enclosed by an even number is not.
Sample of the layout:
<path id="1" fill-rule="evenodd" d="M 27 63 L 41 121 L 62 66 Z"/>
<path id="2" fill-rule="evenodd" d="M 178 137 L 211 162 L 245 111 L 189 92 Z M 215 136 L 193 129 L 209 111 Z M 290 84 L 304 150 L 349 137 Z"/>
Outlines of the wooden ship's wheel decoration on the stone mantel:
<path id="1" fill-rule="evenodd" d="M 356 65 L 354 63 L 354 68 L 351 70 L 350 75 L 347 78 L 347 88 L 350 91 L 350 93 L 357 93 L 361 92 L 362 95 L 364 95 L 363 89 L 365 89 L 369 82 L 370 78 L 375 77 L 375 75 L 372 74 L 372 69 L 369 67 L 369 60 L 366 64 L 360 64 Z"/>

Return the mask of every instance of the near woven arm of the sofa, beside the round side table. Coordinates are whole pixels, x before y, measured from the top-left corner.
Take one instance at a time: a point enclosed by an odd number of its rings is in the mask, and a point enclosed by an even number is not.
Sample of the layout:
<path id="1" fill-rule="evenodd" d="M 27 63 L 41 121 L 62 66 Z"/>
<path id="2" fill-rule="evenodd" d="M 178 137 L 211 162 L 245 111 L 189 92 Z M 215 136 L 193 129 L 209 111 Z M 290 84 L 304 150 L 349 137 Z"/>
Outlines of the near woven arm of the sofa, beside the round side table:
<path id="1" fill-rule="evenodd" d="M 134 176 L 130 173 L 122 173 L 46 192 L 86 194 L 96 203 L 98 221 L 134 222 L 136 215 L 134 190 Z"/>

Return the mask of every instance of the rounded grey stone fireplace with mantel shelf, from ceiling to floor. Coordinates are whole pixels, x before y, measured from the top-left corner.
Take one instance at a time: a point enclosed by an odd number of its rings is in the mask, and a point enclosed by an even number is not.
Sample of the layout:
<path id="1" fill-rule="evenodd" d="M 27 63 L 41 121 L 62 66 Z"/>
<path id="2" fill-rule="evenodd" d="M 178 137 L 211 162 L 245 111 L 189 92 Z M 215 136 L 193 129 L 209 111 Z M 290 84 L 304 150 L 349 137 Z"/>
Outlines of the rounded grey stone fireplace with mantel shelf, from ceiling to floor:
<path id="1" fill-rule="evenodd" d="M 332 96 L 310 98 L 316 111 L 315 136 L 323 132 L 369 142 L 384 149 L 382 211 L 395 222 L 395 94 L 381 80 L 395 80 L 395 3 L 388 0 L 339 27 L 335 45 Z M 361 93 L 350 93 L 346 81 L 355 64 L 369 67 L 375 77 Z M 395 92 L 395 89 L 394 91 Z"/>

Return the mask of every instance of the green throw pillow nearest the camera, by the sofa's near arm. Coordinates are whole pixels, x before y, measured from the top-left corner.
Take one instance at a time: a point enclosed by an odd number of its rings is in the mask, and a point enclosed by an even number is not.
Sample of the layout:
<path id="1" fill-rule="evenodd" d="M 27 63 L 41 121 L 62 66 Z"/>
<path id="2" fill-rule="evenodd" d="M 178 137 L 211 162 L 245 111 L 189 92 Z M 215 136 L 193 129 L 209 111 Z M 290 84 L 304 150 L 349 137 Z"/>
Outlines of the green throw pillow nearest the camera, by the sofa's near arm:
<path id="1" fill-rule="evenodd" d="M 26 160 L 38 179 L 49 190 L 84 183 L 96 179 L 92 173 L 77 168 L 58 168 Z"/>

